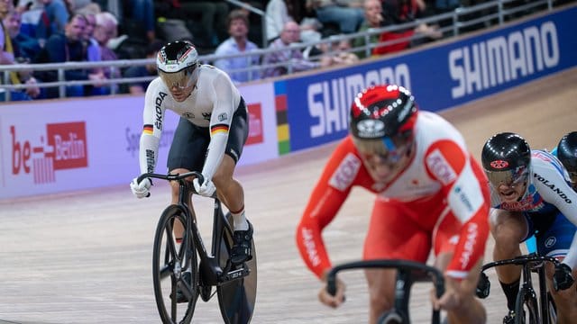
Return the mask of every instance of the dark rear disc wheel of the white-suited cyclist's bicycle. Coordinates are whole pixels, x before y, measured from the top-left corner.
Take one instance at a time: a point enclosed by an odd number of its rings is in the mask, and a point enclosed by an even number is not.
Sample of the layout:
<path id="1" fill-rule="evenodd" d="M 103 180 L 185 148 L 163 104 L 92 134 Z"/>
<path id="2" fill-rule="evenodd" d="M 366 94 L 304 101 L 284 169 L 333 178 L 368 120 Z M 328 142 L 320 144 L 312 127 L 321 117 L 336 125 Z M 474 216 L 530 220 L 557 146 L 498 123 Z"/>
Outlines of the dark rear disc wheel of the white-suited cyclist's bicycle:
<path id="1" fill-rule="evenodd" d="M 228 213 L 226 217 L 229 222 L 232 223 L 231 214 Z M 224 269 L 229 260 L 230 250 L 233 247 L 233 238 L 228 231 L 224 230 L 220 242 L 221 251 L 219 262 L 221 268 Z M 252 312 L 254 311 L 256 301 L 257 284 L 257 263 L 254 240 L 252 240 L 252 259 L 245 264 L 251 271 L 249 275 L 216 287 L 218 306 L 223 315 L 223 320 L 227 324 L 247 324 L 250 323 L 252 319 Z"/>

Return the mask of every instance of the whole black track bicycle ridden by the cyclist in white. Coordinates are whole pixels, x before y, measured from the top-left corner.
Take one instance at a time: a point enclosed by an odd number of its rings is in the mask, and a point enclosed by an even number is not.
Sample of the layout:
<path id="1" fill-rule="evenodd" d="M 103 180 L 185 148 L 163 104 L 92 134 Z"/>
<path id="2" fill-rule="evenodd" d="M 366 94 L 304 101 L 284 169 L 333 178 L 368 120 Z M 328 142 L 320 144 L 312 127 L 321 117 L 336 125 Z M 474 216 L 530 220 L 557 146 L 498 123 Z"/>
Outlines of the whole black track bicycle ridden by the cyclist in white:
<path id="1" fill-rule="evenodd" d="M 180 175 L 147 173 L 138 177 L 157 178 L 179 182 L 179 202 L 170 204 L 160 216 L 154 235 L 152 253 L 152 280 L 154 297 L 165 324 L 189 323 L 195 311 L 197 298 L 208 302 L 216 293 L 224 323 L 246 324 L 252 319 L 256 300 L 257 264 L 252 241 L 252 259 L 243 264 L 230 260 L 234 243 L 232 215 L 224 214 L 216 195 L 213 204 L 213 227 L 210 253 L 197 227 L 197 216 L 188 207 L 194 186 L 187 178 L 203 176 L 196 172 Z M 209 198 L 210 199 L 210 198 Z M 175 238 L 175 222 L 184 228 L 182 238 Z M 213 287 L 216 287 L 213 293 Z"/>

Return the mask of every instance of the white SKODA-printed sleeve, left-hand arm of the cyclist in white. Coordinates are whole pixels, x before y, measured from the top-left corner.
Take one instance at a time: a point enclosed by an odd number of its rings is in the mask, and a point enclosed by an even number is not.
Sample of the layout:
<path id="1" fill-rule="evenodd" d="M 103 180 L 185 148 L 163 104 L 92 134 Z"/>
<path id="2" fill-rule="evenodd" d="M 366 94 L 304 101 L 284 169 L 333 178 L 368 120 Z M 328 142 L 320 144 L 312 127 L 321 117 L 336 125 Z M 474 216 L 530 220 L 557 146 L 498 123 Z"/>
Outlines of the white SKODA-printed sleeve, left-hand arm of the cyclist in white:
<path id="1" fill-rule="evenodd" d="M 139 161 L 141 174 L 154 172 L 158 160 L 164 107 L 168 92 L 160 86 L 160 78 L 152 80 L 144 96 L 144 112 L 142 113 L 143 129 L 140 140 Z M 158 100 L 157 100 L 158 99 Z M 159 109 L 157 110 L 157 103 Z"/>

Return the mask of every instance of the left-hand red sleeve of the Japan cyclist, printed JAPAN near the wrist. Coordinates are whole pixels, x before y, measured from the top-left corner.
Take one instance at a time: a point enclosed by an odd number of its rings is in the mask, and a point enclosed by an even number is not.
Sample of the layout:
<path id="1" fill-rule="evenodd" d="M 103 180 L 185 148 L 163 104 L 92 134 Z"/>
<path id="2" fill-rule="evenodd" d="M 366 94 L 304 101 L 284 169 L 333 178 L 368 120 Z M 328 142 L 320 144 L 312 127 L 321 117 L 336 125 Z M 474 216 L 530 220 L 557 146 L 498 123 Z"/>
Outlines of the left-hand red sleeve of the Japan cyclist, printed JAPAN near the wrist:
<path id="1" fill-rule="evenodd" d="M 334 149 L 297 226 L 300 257 L 319 278 L 331 267 L 321 232 L 343 205 L 362 167 L 354 152 L 350 137 Z"/>

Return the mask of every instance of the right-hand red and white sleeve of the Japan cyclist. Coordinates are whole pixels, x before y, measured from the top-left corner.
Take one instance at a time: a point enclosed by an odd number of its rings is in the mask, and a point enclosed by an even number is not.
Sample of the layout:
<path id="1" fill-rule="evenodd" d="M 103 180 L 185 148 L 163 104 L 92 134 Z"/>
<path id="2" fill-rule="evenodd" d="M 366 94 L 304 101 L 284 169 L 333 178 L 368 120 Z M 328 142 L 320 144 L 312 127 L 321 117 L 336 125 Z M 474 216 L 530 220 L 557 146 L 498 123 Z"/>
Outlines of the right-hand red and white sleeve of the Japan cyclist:
<path id="1" fill-rule="evenodd" d="M 453 259 L 445 274 L 464 279 L 483 257 L 489 236 L 487 178 L 469 153 L 451 140 L 435 143 L 427 151 L 427 170 L 442 185 L 447 202 L 463 224 Z"/>

